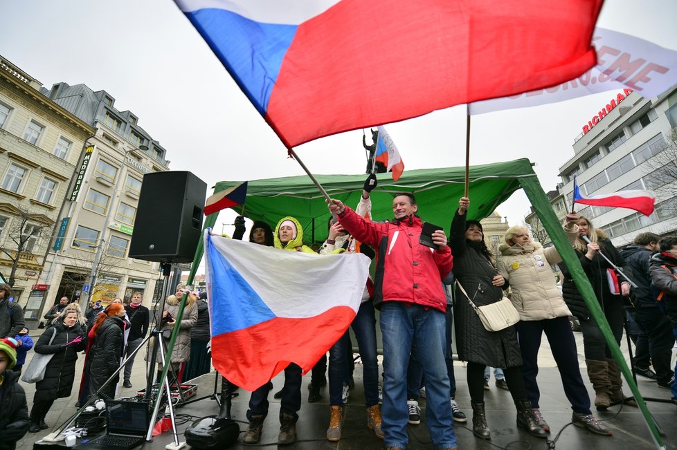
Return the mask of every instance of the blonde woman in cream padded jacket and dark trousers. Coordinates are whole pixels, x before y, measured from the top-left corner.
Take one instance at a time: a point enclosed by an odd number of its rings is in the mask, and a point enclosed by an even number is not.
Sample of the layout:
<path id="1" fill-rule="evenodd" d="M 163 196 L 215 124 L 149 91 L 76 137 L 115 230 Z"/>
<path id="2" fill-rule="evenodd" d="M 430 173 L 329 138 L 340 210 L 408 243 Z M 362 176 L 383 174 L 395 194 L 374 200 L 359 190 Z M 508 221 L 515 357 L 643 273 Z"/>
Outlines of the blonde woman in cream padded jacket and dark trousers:
<path id="1" fill-rule="evenodd" d="M 566 216 L 564 231 L 572 244 L 578 239 L 578 220 L 575 213 Z M 536 382 L 539 348 L 545 332 L 564 393 L 571 403 L 573 424 L 593 433 L 611 435 L 590 411 L 590 397 L 578 366 L 576 339 L 569 326 L 571 313 L 550 268 L 562 261 L 559 252 L 555 247 L 543 248 L 540 243 L 532 242 L 529 230 L 521 225 L 509 227 L 504 240 L 498 247 L 496 269 L 510 284 L 512 304 L 520 315 L 517 336 L 522 354 L 521 373 L 537 423 L 544 431 L 550 431 L 539 409 L 541 392 Z"/>

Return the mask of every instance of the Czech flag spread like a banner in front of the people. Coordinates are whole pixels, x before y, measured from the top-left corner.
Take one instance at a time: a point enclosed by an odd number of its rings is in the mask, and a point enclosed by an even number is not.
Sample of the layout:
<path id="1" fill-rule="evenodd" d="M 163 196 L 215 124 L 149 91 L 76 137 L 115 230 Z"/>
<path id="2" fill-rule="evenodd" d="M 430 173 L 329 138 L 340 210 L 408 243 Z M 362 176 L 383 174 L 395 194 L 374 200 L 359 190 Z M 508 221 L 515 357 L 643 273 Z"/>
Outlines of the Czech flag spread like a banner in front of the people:
<path id="1" fill-rule="evenodd" d="M 254 391 L 294 362 L 309 371 L 354 319 L 370 259 L 205 234 L 214 367 Z"/>

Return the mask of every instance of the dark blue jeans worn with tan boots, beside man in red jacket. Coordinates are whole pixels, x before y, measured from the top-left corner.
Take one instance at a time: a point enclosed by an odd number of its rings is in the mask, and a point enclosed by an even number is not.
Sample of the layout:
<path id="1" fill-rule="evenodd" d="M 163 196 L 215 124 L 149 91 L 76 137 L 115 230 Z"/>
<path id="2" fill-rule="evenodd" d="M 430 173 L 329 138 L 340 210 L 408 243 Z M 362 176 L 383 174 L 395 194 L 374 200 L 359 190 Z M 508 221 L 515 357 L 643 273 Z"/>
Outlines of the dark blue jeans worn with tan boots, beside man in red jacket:
<path id="1" fill-rule="evenodd" d="M 379 362 L 376 351 L 374 303 L 365 301 L 352 321 L 363 365 L 365 406 L 379 404 Z M 345 335 L 329 350 L 329 398 L 332 405 L 343 405 L 343 381 L 348 378 L 348 358 L 352 357 L 350 335 Z"/>

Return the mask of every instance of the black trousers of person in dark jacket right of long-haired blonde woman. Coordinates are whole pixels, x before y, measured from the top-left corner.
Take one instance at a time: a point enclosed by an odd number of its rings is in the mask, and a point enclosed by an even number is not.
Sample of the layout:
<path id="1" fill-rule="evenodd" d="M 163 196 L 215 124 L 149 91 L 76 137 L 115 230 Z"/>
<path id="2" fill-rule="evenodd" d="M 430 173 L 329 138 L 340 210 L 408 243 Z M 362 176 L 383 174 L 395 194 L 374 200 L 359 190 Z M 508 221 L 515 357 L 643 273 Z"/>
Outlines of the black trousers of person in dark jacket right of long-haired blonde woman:
<path id="1" fill-rule="evenodd" d="M 653 371 L 656 372 L 658 380 L 669 381 L 672 376 L 670 359 L 672 357 L 672 346 L 675 342 L 670 321 L 658 308 L 640 307 L 635 310 L 635 322 L 649 339 L 649 354 L 651 355 Z M 647 364 L 642 368 L 648 366 Z"/>

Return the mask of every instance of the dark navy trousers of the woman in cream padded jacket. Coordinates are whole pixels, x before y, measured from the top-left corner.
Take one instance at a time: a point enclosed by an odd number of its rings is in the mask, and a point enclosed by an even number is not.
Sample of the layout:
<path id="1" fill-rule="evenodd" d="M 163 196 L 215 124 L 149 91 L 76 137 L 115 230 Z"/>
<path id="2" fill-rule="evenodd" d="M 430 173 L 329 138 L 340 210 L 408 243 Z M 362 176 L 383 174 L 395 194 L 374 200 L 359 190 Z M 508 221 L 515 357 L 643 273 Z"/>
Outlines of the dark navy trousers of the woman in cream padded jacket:
<path id="1" fill-rule="evenodd" d="M 517 336 L 522 352 L 521 373 L 532 407 L 540 407 L 541 391 L 539 391 L 536 376 L 539 374 L 539 348 L 541 348 L 543 332 L 548 338 L 552 357 L 557 362 L 562 387 L 571 404 L 571 409 L 576 413 L 590 414 L 590 397 L 581 377 L 576 339 L 571 331 L 568 317 L 521 321 L 518 325 Z"/>

